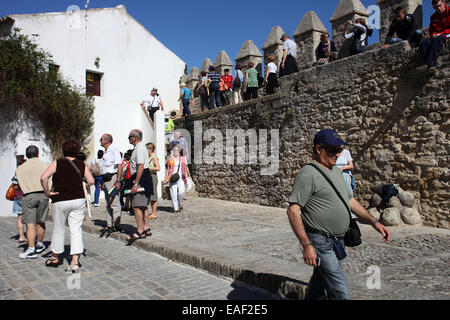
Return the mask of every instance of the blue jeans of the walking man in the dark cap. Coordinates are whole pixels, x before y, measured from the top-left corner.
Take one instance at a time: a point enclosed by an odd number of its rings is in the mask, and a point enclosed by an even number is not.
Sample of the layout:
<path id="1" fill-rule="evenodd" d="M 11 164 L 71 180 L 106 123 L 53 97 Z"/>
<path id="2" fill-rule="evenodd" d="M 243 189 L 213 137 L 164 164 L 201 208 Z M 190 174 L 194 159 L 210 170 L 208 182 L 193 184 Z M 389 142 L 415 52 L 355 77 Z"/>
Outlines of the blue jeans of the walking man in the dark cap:
<path id="1" fill-rule="evenodd" d="M 342 271 L 341 261 L 333 250 L 334 240 L 321 234 L 307 234 L 321 261 L 309 280 L 305 300 L 317 300 L 324 296 L 328 296 L 330 300 L 349 300 L 347 279 Z M 344 245 L 344 240 L 338 241 L 342 241 Z"/>

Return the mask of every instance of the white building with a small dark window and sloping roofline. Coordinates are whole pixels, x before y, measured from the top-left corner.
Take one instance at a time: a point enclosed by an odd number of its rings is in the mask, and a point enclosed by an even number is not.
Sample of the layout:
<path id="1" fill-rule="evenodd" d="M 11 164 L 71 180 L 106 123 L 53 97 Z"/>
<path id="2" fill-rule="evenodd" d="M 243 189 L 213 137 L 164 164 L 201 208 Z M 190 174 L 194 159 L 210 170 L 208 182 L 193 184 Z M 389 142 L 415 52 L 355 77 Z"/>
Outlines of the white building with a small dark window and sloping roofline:
<path id="1" fill-rule="evenodd" d="M 186 64 L 130 16 L 123 5 L 1 19 L 1 33 L 13 28 L 30 36 L 38 35 L 36 42 L 52 55 L 63 77 L 96 95 L 90 159 L 101 149 L 99 140 L 104 133 L 113 135 L 114 144 L 122 152 L 132 149 L 128 142 L 131 129 L 141 129 L 143 142 L 156 143 L 156 152 L 164 159 L 164 114 L 156 114 L 153 129 L 140 103 L 156 87 L 166 113 L 178 111 L 179 80 Z M 5 200 L 4 194 L 15 171 L 15 156 L 25 154 L 30 144 L 45 149 L 40 134 L 29 131 L 24 128 L 16 142 L 2 143 L 0 215 L 11 212 L 12 202 Z M 51 156 L 43 156 L 50 162 Z"/>

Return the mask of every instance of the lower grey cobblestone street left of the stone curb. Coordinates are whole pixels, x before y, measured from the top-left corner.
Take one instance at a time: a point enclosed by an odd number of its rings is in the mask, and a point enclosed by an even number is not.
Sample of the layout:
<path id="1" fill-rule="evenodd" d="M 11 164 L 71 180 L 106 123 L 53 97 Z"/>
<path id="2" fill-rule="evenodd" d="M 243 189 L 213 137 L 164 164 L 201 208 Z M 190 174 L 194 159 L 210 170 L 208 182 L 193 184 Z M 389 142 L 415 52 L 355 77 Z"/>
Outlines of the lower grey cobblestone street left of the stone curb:
<path id="1" fill-rule="evenodd" d="M 15 239 L 15 218 L 0 219 L 0 300 L 117 299 L 117 300 L 240 300 L 269 299 L 270 296 L 238 287 L 189 266 L 176 264 L 155 254 L 126 247 L 113 239 L 84 233 L 86 254 L 82 268 L 73 276 L 59 268 L 44 266 L 50 249 L 37 259 L 23 260 Z M 49 244 L 52 224 L 47 224 L 44 243 Z M 66 233 L 67 243 L 68 233 Z M 77 275 L 80 277 L 77 279 Z M 78 289 L 79 288 L 79 289 Z"/>

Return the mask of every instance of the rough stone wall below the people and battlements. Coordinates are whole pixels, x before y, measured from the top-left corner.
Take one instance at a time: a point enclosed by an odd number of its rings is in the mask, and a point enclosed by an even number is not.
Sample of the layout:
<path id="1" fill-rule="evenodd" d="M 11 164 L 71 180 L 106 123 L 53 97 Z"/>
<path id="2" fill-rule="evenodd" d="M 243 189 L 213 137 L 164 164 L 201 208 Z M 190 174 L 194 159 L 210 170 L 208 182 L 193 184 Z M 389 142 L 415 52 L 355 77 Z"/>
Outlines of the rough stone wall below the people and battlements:
<path id="1" fill-rule="evenodd" d="M 286 207 L 295 176 L 311 160 L 314 134 L 334 128 L 350 144 L 356 197 L 364 205 L 377 184 L 399 184 L 415 195 L 425 224 L 450 228 L 449 47 L 434 75 L 415 69 L 418 52 L 404 42 L 283 77 L 279 95 L 178 120 L 177 127 L 190 130 L 193 140 L 201 138 L 194 134 L 196 121 L 203 132 L 218 129 L 224 136 L 227 129 L 279 130 L 275 175 L 261 175 L 262 166 L 248 161 L 194 162 L 197 192 Z M 208 145 L 202 142 L 203 148 Z"/>

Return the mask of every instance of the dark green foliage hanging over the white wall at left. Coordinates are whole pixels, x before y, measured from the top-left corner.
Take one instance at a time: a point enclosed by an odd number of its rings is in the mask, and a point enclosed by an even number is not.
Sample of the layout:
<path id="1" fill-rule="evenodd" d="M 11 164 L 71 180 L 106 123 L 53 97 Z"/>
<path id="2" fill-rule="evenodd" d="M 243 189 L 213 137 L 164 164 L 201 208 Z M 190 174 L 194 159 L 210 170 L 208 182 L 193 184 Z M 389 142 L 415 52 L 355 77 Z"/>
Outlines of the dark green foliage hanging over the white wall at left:
<path id="1" fill-rule="evenodd" d="M 83 89 L 62 78 L 51 55 L 34 39 L 14 29 L 0 38 L 0 112 L 13 124 L 23 116 L 43 128 L 46 143 L 59 153 L 75 139 L 86 145 L 92 132 L 94 103 Z"/>

